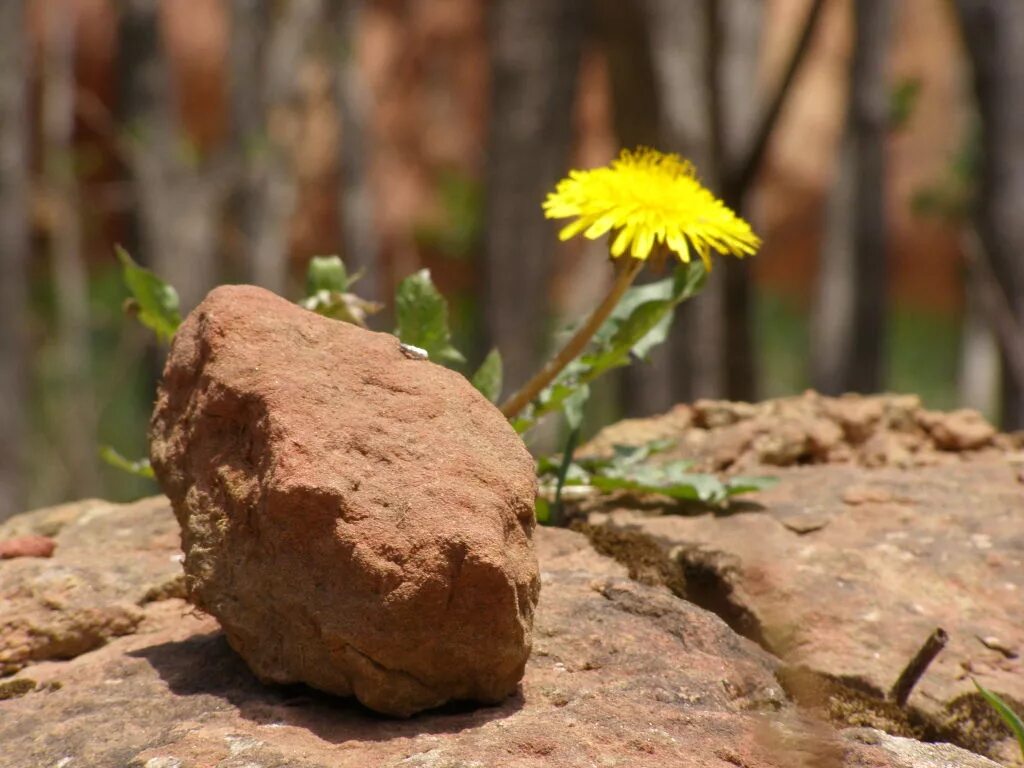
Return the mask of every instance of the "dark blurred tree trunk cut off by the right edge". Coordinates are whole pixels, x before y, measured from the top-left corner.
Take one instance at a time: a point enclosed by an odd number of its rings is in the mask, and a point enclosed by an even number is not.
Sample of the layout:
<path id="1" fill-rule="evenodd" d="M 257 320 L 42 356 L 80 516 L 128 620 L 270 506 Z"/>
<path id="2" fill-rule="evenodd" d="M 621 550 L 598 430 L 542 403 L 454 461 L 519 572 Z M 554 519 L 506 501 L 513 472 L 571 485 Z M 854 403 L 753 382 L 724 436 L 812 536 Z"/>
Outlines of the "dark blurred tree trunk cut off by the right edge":
<path id="1" fill-rule="evenodd" d="M 974 67 L 983 151 L 976 214 L 978 233 L 1018 326 L 1024 325 L 1024 5 L 1005 0 L 957 0 Z M 1024 344 L 1019 338 L 1018 344 Z M 1002 345 L 1005 429 L 1024 427 L 1024 381 Z"/>

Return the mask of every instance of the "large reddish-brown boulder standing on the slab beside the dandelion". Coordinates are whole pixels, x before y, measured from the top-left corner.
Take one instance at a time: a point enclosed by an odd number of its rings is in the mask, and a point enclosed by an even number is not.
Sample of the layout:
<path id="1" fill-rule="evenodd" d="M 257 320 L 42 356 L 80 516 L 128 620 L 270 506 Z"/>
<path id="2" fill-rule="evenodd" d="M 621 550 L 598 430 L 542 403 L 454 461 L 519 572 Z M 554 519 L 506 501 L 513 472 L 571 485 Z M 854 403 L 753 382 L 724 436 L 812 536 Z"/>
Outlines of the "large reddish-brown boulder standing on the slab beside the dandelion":
<path id="1" fill-rule="evenodd" d="M 515 690 L 534 462 L 464 377 L 223 287 L 175 336 L 151 437 L 189 599 L 262 680 L 399 716 Z"/>

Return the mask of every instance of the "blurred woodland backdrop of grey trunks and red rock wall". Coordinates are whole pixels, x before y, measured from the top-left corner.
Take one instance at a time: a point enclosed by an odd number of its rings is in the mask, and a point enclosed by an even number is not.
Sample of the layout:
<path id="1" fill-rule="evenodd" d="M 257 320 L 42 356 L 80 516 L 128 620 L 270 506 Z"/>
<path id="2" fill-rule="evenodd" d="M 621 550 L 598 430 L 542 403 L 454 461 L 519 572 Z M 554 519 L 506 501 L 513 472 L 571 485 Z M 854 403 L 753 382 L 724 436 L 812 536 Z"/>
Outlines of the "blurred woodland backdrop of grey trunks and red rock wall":
<path id="1" fill-rule="evenodd" d="M 185 311 L 218 283 L 298 299 L 316 254 L 386 302 L 429 267 L 508 393 L 611 273 L 544 196 L 637 144 L 764 248 L 591 430 L 811 386 L 1024 427 L 1022 104 L 1014 0 L 2 0 L 0 518 L 155 489 L 97 458 L 144 456 L 163 354 L 114 244 Z"/>

